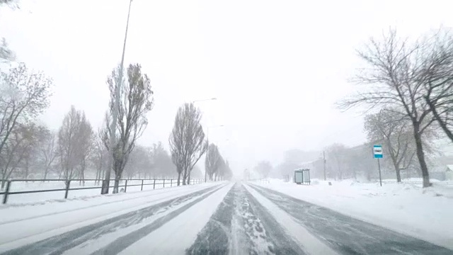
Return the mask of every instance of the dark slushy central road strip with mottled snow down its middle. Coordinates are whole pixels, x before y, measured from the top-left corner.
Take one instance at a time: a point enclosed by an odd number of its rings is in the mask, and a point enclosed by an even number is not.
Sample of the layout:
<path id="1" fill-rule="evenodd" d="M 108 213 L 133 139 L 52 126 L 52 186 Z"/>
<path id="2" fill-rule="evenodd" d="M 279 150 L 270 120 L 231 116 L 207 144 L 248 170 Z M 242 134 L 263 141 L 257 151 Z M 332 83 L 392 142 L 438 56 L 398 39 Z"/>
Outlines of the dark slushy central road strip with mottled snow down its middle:
<path id="1" fill-rule="evenodd" d="M 304 254 L 253 196 L 236 183 L 186 254 Z"/>

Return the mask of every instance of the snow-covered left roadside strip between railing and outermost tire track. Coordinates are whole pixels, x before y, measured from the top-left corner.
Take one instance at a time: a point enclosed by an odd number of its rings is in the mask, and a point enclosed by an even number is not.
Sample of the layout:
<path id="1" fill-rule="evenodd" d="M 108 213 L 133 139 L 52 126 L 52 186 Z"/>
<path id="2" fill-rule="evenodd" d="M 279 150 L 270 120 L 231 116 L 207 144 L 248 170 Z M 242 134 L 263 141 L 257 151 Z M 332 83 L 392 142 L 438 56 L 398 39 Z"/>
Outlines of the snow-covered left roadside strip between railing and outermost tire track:
<path id="1" fill-rule="evenodd" d="M 73 210 L 70 211 L 54 212 L 52 206 L 35 205 L 33 210 L 45 206 L 44 210 L 36 211 L 41 214 L 42 212 L 47 213 L 45 213 L 45 215 L 38 215 L 37 217 L 33 217 L 33 214 L 29 213 L 27 215 L 28 218 L 25 220 L 15 218 L 12 222 L 0 223 L 0 228 L 5 230 L 0 232 L 0 249 L 13 249 L 14 247 L 22 246 L 24 244 L 37 242 L 41 239 L 68 232 L 72 229 L 84 227 L 95 222 L 107 220 L 111 217 L 146 208 L 147 206 L 161 203 L 165 200 L 171 200 L 172 198 L 195 193 L 202 189 L 218 186 L 220 184 L 221 183 L 206 183 L 197 186 L 184 186 L 168 189 L 166 192 L 160 192 L 158 194 L 148 193 L 147 196 L 142 193 L 143 196 L 141 198 L 114 201 L 113 203 L 103 203 L 102 198 L 105 197 L 101 197 L 91 201 L 91 207 L 84 205 L 84 208 L 80 210 L 76 210 L 74 207 Z M 102 205 L 96 206 L 96 202 L 101 203 Z M 78 205 L 80 204 L 78 203 Z M 4 216 L 9 216 L 9 219 L 14 218 L 11 217 L 10 213 L 18 212 L 17 209 L 24 210 L 25 208 L 6 208 L 0 210 L 0 218 L 3 218 Z"/>

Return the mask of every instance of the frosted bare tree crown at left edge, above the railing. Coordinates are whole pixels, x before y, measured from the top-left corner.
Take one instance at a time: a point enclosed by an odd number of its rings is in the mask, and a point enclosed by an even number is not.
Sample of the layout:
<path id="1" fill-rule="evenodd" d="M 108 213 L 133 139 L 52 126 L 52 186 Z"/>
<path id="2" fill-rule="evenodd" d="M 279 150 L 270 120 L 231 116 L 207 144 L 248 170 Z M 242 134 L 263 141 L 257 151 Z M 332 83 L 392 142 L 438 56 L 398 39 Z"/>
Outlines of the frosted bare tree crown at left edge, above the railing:
<path id="1" fill-rule="evenodd" d="M 52 80 L 19 64 L 0 74 L 0 154 L 18 123 L 25 123 L 48 106 Z"/>

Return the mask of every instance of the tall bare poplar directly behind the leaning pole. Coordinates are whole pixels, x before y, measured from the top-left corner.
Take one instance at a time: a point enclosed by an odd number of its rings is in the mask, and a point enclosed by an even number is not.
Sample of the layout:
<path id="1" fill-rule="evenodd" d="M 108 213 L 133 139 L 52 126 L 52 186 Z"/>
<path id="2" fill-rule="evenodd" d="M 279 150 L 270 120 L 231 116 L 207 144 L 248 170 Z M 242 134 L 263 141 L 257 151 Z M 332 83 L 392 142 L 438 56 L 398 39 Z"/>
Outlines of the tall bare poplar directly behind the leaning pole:
<path id="1" fill-rule="evenodd" d="M 119 68 L 114 69 L 107 79 L 110 90 L 110 111 L 105 115 L 105 134 L 103 140 L 105 147 L 110 153 L 112 153 L 109 144 L 110 116 L 115 111 L 115 87 L 118 81 Z M 118 102 L 117 107 L 118 132 L 115 133 L 117 139 L 115 148 L 113 148 L 113 171 L 115 172 L 113 193 L 118 192 L 122 171 L 125 169 L 129 154 L 134 149 L 135 141 L 142 136 L 144 129 L 148 125 L 147 113 L 151 111 L 153 106 L 151 81 L 147 74 L 142 73 L 142 66 L 140 64 L 130 64 L 127 67 L 127 82 L 122 82 L 120 86 L 120 102 Z M 107 182 L 109 180 L 105 181 Z"/>

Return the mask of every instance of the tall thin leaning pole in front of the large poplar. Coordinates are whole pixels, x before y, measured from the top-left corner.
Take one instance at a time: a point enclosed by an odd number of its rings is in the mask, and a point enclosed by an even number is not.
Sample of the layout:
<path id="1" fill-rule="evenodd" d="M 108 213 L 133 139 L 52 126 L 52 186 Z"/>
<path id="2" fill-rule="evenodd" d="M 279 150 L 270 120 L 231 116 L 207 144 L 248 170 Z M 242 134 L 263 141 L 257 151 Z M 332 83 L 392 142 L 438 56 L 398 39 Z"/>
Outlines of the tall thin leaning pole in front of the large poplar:
<path id="1" fill-rule="evenodd" d="M 123 69 L 125 64 L 125 51 L 126 51 L 126 40 L 127 40 L 127 30 L 129 28 L 129 18 L 130 18 L 130 6 L 132 5 L 132 0 L 129 2 L 129 11 L 127 11 L 127 22 L 126 22 L 126 33 L 125 33 L 125 41 L 122 45 L 122 55 L 121 55 L 121 63 L 120 63 L 120 70 L 118 70 L 118 78 L 115 84 L 115 103 L 113 104 L 113 112 L 112 112 L 112 123 L 110 123 L 110 157 L 108 160 L 108 169 L 107 173 L 105 173 L 105 179 L 103 181 L 101 194 L 108 194 L 108 189 L 110 188 L 110 172 L 113 168 L 113 162 L 115 161 L 115 145 L 116 145 L 116 125 L 118 121 L 118 111 L 120 109 L 120 93 L 121 93 L 121 86 L 122 86 L 122 76 L 123 76 Z"/>

